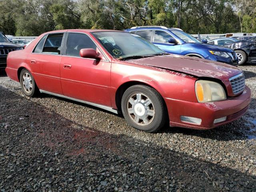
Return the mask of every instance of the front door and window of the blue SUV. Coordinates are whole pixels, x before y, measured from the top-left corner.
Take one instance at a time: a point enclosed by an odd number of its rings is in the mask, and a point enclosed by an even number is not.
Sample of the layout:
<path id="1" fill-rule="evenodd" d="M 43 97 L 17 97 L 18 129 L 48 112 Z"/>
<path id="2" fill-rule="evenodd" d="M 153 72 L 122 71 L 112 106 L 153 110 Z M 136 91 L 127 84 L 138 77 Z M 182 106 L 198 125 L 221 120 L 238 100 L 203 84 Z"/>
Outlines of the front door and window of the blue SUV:
<path id="1" fill-rule="evenodd" d="M 153 43 L 167 53 L 180 54 L 181 45 L 168 43 L 169 38 L 174 37 L 166 31 L 155 30 L 153 35 Z"/>

